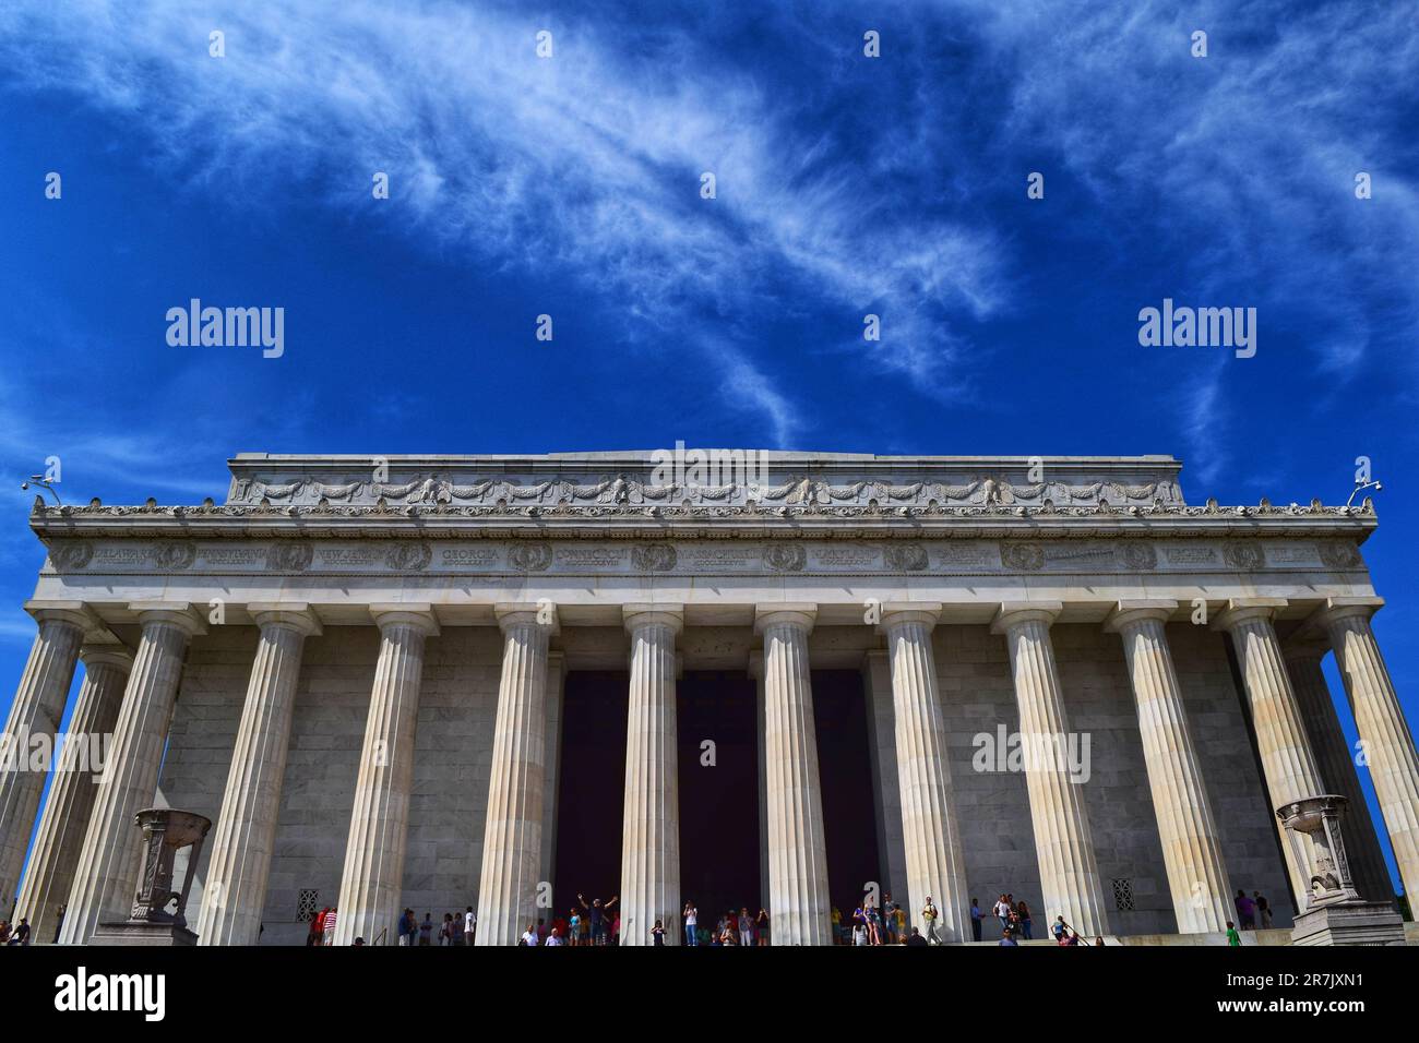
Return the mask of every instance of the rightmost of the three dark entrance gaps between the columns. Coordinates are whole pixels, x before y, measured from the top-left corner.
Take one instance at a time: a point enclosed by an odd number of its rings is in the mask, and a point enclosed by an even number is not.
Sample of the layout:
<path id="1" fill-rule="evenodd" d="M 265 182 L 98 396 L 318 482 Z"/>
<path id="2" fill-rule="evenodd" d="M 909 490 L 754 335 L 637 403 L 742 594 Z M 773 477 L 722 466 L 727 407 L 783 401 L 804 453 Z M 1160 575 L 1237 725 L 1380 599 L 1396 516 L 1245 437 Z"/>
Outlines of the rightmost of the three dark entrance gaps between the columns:
<path id="1" fill-rule="evenodd" d="M 863 900 L 863 885 L 881 876 L 861 671 L 815 670 L 813 719 L 823 792 L 827 890 L 847 922 Z M 905 895 L 894 898 L 902 901 Z"/>

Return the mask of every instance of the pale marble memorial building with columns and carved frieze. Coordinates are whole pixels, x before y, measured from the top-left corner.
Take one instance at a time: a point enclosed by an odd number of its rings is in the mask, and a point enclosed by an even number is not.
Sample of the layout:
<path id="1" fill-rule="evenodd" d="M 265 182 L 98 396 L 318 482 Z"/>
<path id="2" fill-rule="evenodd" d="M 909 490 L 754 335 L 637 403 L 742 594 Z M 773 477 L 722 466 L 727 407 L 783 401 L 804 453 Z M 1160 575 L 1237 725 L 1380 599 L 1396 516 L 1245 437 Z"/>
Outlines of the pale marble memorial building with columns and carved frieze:
<path id="1" fill-rule="evenodd" d="M 13 920 L 125 920 L 149 807 L 213 823 L 203 945 L 299 945 L 326 905 L 335 944 L 471 905 L 509 945 L 579 894 L 627 945 L 680 944 L 687 900 L 824 945 L 864 893 L 922 929 L 931 895 L 944 941 L 972 898 L 998 939 L 1003 893 L 1037 938 L 1216 941 L 1237 890 L 1290 927 L 1276 809 L 1327 793 L 1359 894 L 1393 900 L 1382 833 L 1419 893 L 1368 501 L 1186 501 L 1165 456 L 664 456 L 251 453 L 226 502 L 37 501 Z M 65 712 L 101 756 L 26 763 Z"/>

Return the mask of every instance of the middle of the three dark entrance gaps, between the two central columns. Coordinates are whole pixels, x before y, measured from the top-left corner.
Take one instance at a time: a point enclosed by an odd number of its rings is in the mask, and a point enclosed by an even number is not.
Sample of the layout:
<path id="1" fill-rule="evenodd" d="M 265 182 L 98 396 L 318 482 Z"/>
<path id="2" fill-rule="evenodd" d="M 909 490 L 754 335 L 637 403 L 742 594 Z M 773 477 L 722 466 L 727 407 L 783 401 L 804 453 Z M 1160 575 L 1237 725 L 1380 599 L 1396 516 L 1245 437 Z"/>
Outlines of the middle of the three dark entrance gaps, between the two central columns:
<path id="1" fill-rule="evenodd" d="M 728 911 L 756 914 L 759 736 L 755 681 L 745 673 L 687 671 L 678 685 L 680 894 L 714 927 Z M 714 766 L 701 744 L 715 744 Z"/>

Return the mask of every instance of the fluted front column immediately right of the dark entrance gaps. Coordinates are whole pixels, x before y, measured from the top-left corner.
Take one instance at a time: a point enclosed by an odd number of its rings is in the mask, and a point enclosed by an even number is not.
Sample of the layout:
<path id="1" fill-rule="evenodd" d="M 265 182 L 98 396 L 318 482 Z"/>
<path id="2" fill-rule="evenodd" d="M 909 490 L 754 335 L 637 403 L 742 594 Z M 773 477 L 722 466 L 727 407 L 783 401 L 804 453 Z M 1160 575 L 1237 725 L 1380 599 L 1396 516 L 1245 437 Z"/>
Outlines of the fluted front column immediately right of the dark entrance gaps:
<path id="1" fill-rule="evenodd" d="M 939 605 L 884 605 L 881 624 L 891 660 L 901 832 L 911 903 L 907 915 L 925 932 L 921 910 L 929 897 L 939 911 L 937 934 L 941 941 L 962 942 L 971 938 L 971 897 L 951 788 L 937 657 L 931 649 L 931 631 L 939 614 Z"/>

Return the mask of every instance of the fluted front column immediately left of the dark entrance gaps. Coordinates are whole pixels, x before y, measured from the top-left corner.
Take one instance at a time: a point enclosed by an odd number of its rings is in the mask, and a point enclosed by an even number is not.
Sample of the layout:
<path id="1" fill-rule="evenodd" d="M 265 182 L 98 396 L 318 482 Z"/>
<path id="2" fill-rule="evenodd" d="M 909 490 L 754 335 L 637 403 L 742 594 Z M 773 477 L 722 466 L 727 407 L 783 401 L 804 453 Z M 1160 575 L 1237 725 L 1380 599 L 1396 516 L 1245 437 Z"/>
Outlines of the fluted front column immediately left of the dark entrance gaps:
<path id="1" fill-rule="evenodd" d="M 502 627 L 502 680 L 492 729 L 492 778 L 482 834 L 477 945 L 517 945 L 538 917 L 546 775 L 551 603 L 494 606 Z"/>

